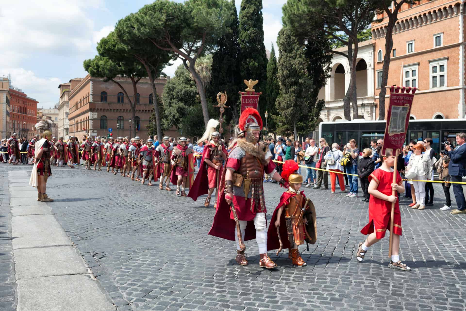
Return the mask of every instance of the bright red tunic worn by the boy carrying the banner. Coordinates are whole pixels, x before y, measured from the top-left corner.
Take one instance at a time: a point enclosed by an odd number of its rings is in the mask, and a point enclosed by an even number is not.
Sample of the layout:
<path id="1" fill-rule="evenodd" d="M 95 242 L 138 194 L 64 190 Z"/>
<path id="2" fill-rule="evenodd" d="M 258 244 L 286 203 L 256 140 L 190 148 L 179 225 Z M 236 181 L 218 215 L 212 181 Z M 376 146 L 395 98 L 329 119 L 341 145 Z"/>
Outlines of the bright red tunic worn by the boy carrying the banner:
<path id="1" fill-rule="evenodd" d="M 391 184 L 393 182 L 393 172 L 386 172 L 381 168 L 375 170 L 369 176 L 369 182 L 374 179 L 378 186 L 377 190 L 390 196 L 392 194 Z M 401 185 L 400 174 L 397 172 L 397 184 Z M 378 199 L 370 195 L 369 199 L 369 223 L 361 230 L 362 234 L 376 232 L 377 238 L 383 238 L 385 231 L 390 230 L 391 202 Z M 401 235 L 401 214 L 400 205 L 395 203 L 395 216 L 393 218 L 393 233 Z"/>

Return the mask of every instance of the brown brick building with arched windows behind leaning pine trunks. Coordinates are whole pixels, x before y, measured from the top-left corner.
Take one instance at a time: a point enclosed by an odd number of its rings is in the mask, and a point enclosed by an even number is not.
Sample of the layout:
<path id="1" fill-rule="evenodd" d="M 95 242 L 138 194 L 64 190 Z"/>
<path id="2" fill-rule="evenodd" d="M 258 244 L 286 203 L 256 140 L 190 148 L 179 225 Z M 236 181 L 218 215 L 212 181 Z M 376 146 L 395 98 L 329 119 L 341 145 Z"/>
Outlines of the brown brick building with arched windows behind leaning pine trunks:
<path id="1" fill-rule="evenodd" d="M 155 80 L 159 96 L 162 95 L 168 79 L 170 78 L 161 76 Z M 134 92 L 131 80 L 123 77 L 116 80 L 132 99 Z M 138 102 L 135 120 L 131 120 L 128 100 L 114 82 L 104 82 L 102 78 L 94 78 L 88 74 L 80 81 L 71 79 L 70 90 L 69 135 L 79 139 L 83 134 L 106 136 L 108 128 L 112 128 L 114 137 L 136 135 L 147 137 L 146 125 L 153 110 L 152 87 L 149 79 L 144 78 L 137 83 Z M 132 122 L 137 124 L 136 133 L 130 126 Z"/>

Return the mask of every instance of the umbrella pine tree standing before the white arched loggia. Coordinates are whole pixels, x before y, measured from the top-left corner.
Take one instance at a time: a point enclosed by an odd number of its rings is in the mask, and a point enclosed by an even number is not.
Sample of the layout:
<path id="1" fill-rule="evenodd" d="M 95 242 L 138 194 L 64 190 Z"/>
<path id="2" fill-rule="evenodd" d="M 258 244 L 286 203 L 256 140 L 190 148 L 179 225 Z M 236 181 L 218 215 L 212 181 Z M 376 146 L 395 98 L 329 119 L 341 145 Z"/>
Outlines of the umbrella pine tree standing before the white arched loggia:
<path id="1" fill-rule="evenodd" d="M 358 117 L 356 99 L 356 60 L 358 33 L 371 25 L 377 12 L 377 1 L 372 0 L 288 0 L 283 6 L 283 20 L 301 40 L 315 40 L 323 32 L 331 43 L 342 43 L 348 47 L 343 53 L 331 46 L 326 51 L 348 59 L 350 80 L 343 98 L 345 119 L 351 120 L 349 103 L 353 108 L 353 119 Z M 345 40 L 344 35 L 348 36 Z"/>

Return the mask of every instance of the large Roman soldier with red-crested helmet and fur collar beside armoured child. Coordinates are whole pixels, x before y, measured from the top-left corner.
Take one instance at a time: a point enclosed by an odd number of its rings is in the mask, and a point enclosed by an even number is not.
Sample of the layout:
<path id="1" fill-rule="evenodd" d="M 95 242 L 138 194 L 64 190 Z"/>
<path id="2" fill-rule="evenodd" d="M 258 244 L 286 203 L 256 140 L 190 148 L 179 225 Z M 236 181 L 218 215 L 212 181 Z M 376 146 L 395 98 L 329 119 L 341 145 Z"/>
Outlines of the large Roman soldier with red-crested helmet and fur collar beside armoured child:
<path id="1" fill-rule="evenodd" d="M 264 172 L 288 189 L 288 182 L 275 171 L 267 146 L 259 145 L 262 119 L 259 112 L 247 108 L 240 116 L 240 133 L 228 154 L 220 182 L 217 212 L 210 235 L 236 240 L 239 265 L 247 265 L 244 241 L 256 238 L 259 246 L 259 266 L 276 267 L 267 255 L 267 219 L 262 178 Z M 191 192 L 191 191 L 190 191 Z"/>

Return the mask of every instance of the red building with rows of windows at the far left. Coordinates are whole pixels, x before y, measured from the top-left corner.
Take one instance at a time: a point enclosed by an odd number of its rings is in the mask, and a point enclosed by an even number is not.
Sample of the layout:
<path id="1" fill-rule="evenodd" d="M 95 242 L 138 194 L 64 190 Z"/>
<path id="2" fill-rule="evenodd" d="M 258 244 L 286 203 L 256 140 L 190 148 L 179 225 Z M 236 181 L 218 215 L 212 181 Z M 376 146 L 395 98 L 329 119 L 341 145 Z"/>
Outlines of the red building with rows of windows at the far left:
<path id="1" fill-rule="evenodd" d="M 36 123 L 37 100 L 30 98 L 21 89 L 9 88 L 11 95 L 10 100 L 10 135 L 14 132 L 18 137 L 26 136 L 31 139 L 36 131 L 34 124 Z"/>

